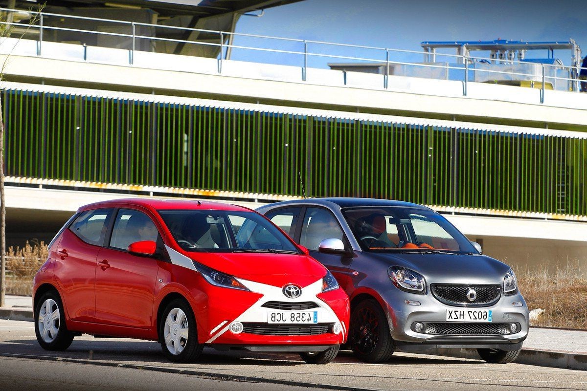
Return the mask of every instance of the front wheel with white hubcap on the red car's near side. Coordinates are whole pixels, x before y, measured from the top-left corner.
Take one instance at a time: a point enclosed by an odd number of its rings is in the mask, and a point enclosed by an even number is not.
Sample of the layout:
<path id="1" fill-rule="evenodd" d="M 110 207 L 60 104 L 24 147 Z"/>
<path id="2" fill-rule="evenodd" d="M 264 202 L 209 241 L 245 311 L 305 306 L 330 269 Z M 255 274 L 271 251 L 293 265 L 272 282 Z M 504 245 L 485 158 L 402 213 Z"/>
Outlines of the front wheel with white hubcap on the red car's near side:
<path id="1" fill-rule="evenodd" d="M 204 345 L 198 344 L 194 311 L 185 300 L 167 305 L 159 322 L 159 339 L 169 361 L 191 362 L 201 355 Z"/>

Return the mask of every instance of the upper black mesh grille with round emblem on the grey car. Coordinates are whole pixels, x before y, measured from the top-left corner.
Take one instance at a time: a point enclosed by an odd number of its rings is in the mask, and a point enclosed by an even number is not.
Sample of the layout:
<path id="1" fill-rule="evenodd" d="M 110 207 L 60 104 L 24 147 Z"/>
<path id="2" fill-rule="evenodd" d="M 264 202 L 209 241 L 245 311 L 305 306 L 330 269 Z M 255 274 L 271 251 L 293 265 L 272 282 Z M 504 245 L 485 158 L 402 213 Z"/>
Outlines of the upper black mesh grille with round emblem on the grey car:
<path id="1" fill-rule="evenodd" d="M 474 301 L 467 298 L 469 288 L 473 288 L 477 293 Z M 501 297 L 500 285 L 433 284 L 431 291 L 438 301 L 457 307 L 485 307 L 495 304 Z"/>

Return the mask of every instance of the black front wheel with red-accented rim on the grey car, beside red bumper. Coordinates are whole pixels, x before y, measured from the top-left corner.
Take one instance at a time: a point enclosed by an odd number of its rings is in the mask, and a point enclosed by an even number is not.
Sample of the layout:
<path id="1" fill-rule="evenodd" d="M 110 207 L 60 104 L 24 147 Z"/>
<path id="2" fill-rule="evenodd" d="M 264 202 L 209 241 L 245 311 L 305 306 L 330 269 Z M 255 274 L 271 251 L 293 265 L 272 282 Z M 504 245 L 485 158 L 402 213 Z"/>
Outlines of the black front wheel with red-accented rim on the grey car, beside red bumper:
<path id="1" fill-rule="evenodd" d="M 391 358 L 395 343 L 389 324 L 379 303 L 363 300 L 350 315 L 350 347 L 356 358 L 364 362 L 384 362 Z"/>

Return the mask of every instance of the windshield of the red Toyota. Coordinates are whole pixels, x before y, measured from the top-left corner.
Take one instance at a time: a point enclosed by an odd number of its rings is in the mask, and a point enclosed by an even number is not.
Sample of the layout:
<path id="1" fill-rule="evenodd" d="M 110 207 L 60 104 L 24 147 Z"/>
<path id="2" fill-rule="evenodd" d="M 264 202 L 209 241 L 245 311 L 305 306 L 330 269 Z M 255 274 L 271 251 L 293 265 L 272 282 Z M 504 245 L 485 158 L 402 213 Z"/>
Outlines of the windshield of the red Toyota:
<path id="1" fill-rule="evenodd" d="M 177 244 L 185 251 L 300 251 L 277 227 L 255 212 L 232 210 L 159 210 Z"/>

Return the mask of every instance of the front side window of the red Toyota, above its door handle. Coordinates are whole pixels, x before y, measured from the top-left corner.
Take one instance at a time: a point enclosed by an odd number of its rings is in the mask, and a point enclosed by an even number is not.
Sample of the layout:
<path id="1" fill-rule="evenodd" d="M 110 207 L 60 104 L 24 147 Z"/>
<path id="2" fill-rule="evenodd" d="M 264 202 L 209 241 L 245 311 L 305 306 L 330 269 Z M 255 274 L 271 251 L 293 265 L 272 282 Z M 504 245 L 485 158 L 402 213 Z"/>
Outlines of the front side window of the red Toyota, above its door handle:
<path id="1" fill-rule="evenodd" d="M 139 210 L 120 209 L 114 221 L 110 247 L 127 250 L 134 242 L 151 240 L 157 242 L 157 227 L 153 220 Z"/>

